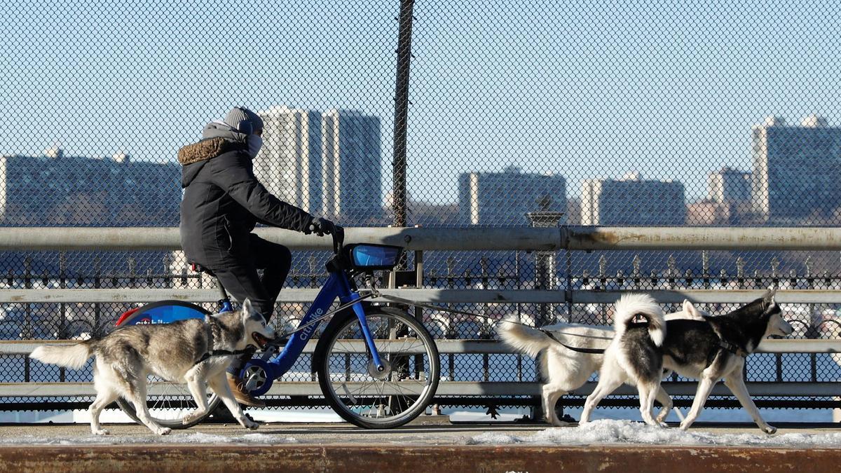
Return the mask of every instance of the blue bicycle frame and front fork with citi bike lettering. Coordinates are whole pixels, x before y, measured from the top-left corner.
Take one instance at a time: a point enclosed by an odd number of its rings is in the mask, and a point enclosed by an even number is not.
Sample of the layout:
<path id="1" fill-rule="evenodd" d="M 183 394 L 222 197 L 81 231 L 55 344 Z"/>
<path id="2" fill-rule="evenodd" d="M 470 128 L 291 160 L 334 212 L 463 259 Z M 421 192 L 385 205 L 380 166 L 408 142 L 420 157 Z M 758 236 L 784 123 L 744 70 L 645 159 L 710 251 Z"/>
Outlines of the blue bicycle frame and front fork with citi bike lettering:
<path id="1" fill-rule="evenodd" d="M 301 319 L 298 327 L 303 327 L 307 323 L 312 322 L 316 318 L 327 313 L 337 296 L 341 304 L 352 302 L 360 297 L 357 291 L 352 289 L 351 283 L 347 279 L 347 274 L 343 270 L 332 272 L 330 274 L 318 295 L 315 296 L 315 301 L 313 301 L 312 306 L 309 306 L 309 310 L 306 315 L 303 319 Z M 361 303 L 353 304 L 351 307 L 356 314 L 357 319 L 359 319 L 359 325 L 362 329 L 362 337 L 365 339 L 365 345 L 368 348 L 369 353 L 371 353 L 373 364 L 378 370 L 382 371 L 384 369 L 383 362 L 379 358 L 377 347 L 373 343 L 373 336 L 371 335 L 371 331 L 368 329 L 368 321 L 365 318 L 365 310 L 363 309 Z M 266 370 L 269 380 L 277 380 L 292 368 L 293 364 L 295 364 L 295 362 L 299 359 L 300 354 L 304 351 L 304 347 L 309 342 L 309 338 L 313 333 L 315 333 L 320 325 L 321 322 L 315 322 L 303 330 L 294 332 L 292 337 L 289 338 L 288 342 L 283 347 L 283 351 L 278 353 L 274 359 L 268 361 L 267 363 L 261 363 L 262 368 Z M 251 360 L 251 363 L 253 364 L 255 361 L 257 360 Z"/>

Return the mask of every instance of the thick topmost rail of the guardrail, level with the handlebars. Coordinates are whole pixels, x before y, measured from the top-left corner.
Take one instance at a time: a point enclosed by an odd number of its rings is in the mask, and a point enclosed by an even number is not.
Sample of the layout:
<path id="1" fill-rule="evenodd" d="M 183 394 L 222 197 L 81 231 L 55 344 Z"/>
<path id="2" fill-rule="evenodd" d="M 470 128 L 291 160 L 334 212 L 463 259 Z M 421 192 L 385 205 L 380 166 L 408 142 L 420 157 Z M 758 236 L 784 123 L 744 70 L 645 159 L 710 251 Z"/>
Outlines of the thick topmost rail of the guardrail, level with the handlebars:
<path id="1" fill-rule="evenodd" d="M 331 248 L 329 238 L 278 228 L 257 234 L 292 249 Z M 409 250 L 841 250 L 841 228 L 559 226 L 553 228 L 358 227 L 347 242 Z M 0 227 L 0 251 L 179 250 L 176 227 Z"/>

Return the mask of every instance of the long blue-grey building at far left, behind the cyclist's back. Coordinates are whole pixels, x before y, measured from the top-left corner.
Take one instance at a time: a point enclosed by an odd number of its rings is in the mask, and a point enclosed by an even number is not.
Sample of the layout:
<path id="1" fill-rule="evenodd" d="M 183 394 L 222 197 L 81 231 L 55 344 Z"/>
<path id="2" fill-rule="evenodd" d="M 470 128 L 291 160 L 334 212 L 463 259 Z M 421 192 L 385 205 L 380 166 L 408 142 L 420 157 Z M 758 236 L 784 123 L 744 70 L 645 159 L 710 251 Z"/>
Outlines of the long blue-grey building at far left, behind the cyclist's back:
<path id="1" fill-rule="evenodd" d="M 0 225 L 177 226 L 181 167 L 110 158 L 0 157 Z"/>

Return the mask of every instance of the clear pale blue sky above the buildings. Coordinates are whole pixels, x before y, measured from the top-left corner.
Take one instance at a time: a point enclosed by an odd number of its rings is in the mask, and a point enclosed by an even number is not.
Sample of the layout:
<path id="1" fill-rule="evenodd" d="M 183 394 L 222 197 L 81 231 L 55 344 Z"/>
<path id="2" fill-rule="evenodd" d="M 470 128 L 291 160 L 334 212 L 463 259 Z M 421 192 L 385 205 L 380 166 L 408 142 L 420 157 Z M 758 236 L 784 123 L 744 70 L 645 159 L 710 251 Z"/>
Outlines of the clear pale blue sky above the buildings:
<path id="1" fill-rule="evenodd" d="M 165 160 L 232 104 L 383 119 L 390 183 L 398 0 L 0 3 L 0 153 L 122 149 Z M 685 183 L 748 168 L 767 114 L 841 125 L 841 6 L 821 2 L 417 0 L 409 162 L 415 198 L 458 173 Z"/>

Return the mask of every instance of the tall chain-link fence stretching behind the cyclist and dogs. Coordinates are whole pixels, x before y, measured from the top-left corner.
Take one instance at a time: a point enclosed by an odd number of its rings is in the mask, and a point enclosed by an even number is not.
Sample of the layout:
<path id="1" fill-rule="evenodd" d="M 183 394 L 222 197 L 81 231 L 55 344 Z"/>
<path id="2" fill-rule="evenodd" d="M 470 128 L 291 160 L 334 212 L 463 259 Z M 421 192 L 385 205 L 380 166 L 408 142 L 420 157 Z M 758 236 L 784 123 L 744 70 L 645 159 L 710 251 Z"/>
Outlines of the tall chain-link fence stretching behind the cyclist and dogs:
<path id="1" fill-rule="evenodd" d="M 264 121 L 253 167 L 266 188 L 345 226 L 841 222 L 841 35 L 827 3 L 25 0 L 0 12 L 2 226 L 177 226 L 177 151 L 235 105 Z M 325 258 L 296 253 L 287 286 L 318 287 Z M 180 252 L 0 259 L 4 288 L 211 284 Z M 453 289 L 841 284 L 837 252 L 433 251 L 424 268 L 426 287 Z M 103 333 L 129 307 L 6 304 L 0 336 Z M 601 305 L 456 308 L 610 320 Z M 785 310 L 796 336 L 838 337 L 838 306 Z M 304 305 L 276 314 L 294 324 Z M 495 337 L 483 320 L 425 321 L 436 337 Z M 838 378 L 837 360 L 805 356 L 786 357 L 786 380 Z M 486 377 L 481 355 L 453 357 L 453 379 Z M 9 380 L 52 376 L 7 361 Z M 494 363 L 492 377 L 533 379 L 531 360 Z M 757 359 L 749 376 L 775 365 Z"/>

